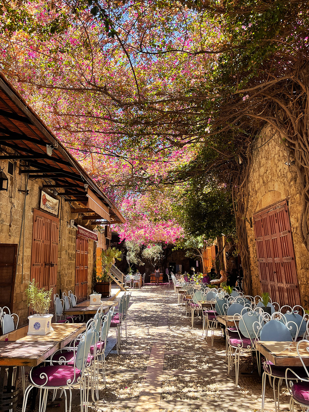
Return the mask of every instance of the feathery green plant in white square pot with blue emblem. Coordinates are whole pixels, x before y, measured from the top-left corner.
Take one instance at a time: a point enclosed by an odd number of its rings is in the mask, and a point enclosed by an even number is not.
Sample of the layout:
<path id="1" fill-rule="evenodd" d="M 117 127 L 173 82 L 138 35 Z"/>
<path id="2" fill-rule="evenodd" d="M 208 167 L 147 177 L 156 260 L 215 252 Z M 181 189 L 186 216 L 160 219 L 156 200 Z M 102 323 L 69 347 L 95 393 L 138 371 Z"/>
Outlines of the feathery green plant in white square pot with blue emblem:
<path id="1" fill-rule="evenodd" d="M 54 316 L 48 313 L 52 300 L 52 289 L 40 289 L 38 288 L 38 283 L 35 283 L 35 279 L 32 279 L 26 293 L 28 296 L 28 307 L 31 307 L 36 312 L 34 315 L 28 316 L 28 335 L 47 335 L 52 330 L 52 317 Z"/>

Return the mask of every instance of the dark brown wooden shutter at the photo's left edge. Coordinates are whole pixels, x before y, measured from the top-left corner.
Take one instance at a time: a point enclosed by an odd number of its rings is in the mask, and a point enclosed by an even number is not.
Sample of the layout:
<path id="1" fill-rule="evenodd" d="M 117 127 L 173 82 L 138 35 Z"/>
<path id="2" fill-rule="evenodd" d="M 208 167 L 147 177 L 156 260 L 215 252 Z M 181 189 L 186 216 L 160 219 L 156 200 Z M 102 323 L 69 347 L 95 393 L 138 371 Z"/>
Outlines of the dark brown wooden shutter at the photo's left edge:
<path id="1" fill-rule="evenodd" d="M 0 302 L 13 310 L 17 245 L 0 243 Z"/>

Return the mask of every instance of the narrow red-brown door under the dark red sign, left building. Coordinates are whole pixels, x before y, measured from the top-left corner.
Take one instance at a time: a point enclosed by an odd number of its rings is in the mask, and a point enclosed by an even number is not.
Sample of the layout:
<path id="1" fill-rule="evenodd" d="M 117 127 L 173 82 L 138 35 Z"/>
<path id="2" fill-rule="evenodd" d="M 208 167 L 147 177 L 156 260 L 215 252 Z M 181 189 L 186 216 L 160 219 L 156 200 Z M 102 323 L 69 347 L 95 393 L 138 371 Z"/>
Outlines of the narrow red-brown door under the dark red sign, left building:
<path id="1" fill-rule="evenodd" d="M 76 234 L 75 295 L 77 301 L 87 299 L 88 239 Z"/>

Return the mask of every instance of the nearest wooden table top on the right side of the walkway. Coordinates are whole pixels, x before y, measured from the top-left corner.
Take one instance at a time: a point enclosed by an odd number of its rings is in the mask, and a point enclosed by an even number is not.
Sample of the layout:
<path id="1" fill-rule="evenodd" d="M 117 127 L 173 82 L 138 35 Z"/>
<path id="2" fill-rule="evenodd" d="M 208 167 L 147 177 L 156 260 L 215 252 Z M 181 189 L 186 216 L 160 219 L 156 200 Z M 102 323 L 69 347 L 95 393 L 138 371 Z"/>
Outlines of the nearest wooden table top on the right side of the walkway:
<path id="1" fill-rule="evenodd" d="M 276 366 L 302 366 L 296 351 L 297 342 L 263 342 L 256 341 L 256 349 Z M 309 353 L 306 342 L 300 344 L 299 352 L 306 366 L 309 366 Z"/>

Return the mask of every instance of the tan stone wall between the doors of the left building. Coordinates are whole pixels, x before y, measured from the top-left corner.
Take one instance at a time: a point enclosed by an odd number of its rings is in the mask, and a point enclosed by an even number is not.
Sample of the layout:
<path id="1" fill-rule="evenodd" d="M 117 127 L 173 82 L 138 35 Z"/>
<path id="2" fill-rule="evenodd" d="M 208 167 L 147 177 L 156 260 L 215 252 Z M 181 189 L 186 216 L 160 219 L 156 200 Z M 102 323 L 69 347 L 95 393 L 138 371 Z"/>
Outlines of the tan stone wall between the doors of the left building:
<path id="1" fill-rule="evenodd" d="M 16 164 L 15 164 L 16 165 Z M 19 164 L 17 163 L 17 166 Z M 21 222 L 23 214 L 24 193 L 26 176 L 19 174 L 19 168 L 15 167 L 14 175 L 7 173 L 7 161 L 0 160 L 0 167 L 4 168 L 9 177 L 9 189 L 7 192 L 0 191 L 0 243 L 19 244 Z M 30 281 L 32 232 L 33 232 L 33 210 L 39 209 L 40 188 L 45 183 L 42 179 L 28 180 L 28 195 L 26 196 L 26 213 L 24 222 L 24 235 L 21 236 L 19 258 L 16 270 L 13 311 L 20 317 L 20 325 L 27 322 L 28 307 L 26 288 Z M 56 292 L 67 292 L 75 290 L 75 248 L 76 229 L 70 227 L 70 204 L 59 197 L 59 246 L 57 266 L 57 288 Z M 94 247 L 95 242 L 89 239 L 88 256 L 88 293 L 92 290 L 92 276 L 95 269 Z M 0 302 L 1 306 L 1 302 Z"/>

